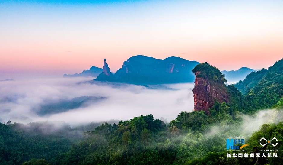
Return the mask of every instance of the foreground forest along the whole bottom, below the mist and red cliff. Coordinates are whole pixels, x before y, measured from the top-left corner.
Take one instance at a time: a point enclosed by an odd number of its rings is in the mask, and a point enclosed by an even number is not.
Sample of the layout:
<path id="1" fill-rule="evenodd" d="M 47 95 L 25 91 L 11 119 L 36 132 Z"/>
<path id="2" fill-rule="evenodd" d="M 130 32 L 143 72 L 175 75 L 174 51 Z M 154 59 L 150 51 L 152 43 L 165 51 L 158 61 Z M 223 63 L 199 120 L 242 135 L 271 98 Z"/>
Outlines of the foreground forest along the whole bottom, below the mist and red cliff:
<path id="1" fill-rule="evenodd" d="M 205 112 L 181 112 L 167 125 L 152 115 L 135 117 L 117 124 L 102 124 L 83 137 L 75 129 L 36 133 L 1 124 L 2 164 L 277 164 L 274 159 L 227 158 L 226 136 L 242 134 L 242 113 L 230 113 L 226 103 Z M 273 115 L 278 115 L 275 111 Z M 281 116 L 282 117 L 282 116 Z M 273 119 L 270 123 L 277 122 Z M 38 123 L 37 123 L 38 124 Z M 213 131 L 212 131 L 213 130 Z M 65 132 L 65 134 L 61 134 Z M 281 155 L 283 124 L 265 124 L 246 138 L 251 146 L 245 153 L 259 153 L 261 137 L 277 137 Z M 68 137 L 67 137 L 68 136 Z M 73 137 L 73 139 L 70 139 Z M 79 141 L 79 142 L 78 142 Z M 213 158 L 213 159 L 212 159 Z"/>

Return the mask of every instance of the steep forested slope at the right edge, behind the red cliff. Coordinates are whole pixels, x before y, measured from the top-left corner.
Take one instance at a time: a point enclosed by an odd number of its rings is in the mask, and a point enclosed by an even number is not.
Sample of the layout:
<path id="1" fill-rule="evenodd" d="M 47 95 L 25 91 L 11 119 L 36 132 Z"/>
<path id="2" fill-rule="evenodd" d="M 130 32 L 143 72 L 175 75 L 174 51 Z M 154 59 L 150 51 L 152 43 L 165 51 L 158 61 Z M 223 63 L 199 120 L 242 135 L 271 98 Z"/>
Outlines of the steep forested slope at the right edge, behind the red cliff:
<path id="1" fill-rule="evenodd" d="M 283 97 L 283 59 L 235 84 L 252 109 L 272 108 Z M 279 103 L 278 103 L 279 104 Z"/>

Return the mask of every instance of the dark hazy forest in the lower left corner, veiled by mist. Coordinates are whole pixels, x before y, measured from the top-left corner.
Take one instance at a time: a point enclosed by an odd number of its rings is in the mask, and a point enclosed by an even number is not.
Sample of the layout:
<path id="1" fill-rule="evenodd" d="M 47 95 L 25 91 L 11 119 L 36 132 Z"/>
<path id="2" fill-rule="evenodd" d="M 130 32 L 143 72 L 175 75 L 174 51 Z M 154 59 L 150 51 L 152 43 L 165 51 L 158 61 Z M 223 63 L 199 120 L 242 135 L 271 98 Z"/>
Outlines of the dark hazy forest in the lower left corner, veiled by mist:
<path id="1" fill-rule="evenodd" d="M 0 123 L 0 164 L 22 164 L 32 158 L 51 161 L 82 139 L 81 131 L 64 122 Z"/>

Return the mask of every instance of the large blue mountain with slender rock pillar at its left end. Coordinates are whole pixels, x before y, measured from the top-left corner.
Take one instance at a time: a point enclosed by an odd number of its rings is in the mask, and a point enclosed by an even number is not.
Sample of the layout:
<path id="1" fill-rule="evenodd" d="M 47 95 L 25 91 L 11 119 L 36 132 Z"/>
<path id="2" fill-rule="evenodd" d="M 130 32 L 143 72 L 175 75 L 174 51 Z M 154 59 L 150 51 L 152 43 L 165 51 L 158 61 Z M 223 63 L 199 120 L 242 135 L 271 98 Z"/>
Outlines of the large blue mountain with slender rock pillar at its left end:
<path id="1" fill-rule="evenodd" d="M 164 60 L 143 55 L 130 57 L 122 68 L 111 74 L 104 59 L 103 72 L 95 80 L 124 82 L 130 84 L 162 84 L 194 82 L 192 69 L 199 64 L 180 57 L 168 57 Z"/>

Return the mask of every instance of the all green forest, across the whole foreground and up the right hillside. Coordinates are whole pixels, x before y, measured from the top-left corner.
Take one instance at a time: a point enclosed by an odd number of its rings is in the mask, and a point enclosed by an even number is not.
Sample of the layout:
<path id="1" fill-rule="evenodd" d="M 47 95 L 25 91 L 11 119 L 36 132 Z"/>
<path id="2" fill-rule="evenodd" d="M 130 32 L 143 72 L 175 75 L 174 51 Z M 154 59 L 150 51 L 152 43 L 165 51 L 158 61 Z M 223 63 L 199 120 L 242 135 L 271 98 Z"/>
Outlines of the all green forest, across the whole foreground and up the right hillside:
<path id="1" fill-rule="evenodd" d="M 226 82 L 217 68 L 206 72 L 210 79 Z M 283 60 L 280 60 L 268 70 L 252 72 L 243 81 L 228 85 L 231 102 L 215 102 L 209 115 L 204 111 L 180 112 L 170 123 L 154 119 L 151 114 L 77 128 L 63 122 L 0 123 L 0 165 L 280 164 L 282 77 Z M 267 108 L 274 109 L 265 110 L 258 118 L 257 112 Z M 248 125 L 257 124 L 252 120 L 266 124 L 258 125 L 260 128 L 255 128 L 258 131 L 247 130 Z M 226 137 L 239 135 L 245 136 L 244 144 L 250 144 L 243 148 L 243 154 L 261 156 L 227 157 L 240 152 L 226 150 Z M 262 137 L 276 137 L 278 145 L 262 147 L 259 144 Z M 267 157 L 267 153 L 262 157 L 262 149 L 276 149 L 270 153 L 278 157 Z"/>

